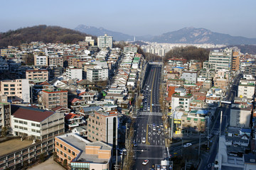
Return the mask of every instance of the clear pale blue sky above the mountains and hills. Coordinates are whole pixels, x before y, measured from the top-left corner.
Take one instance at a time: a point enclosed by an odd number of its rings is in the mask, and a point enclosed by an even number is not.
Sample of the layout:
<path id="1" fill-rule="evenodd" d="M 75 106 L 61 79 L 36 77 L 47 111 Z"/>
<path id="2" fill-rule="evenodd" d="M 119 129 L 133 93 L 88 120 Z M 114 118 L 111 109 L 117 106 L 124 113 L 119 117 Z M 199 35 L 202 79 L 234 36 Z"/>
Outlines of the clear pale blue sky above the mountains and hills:
<path id="1" fill-rule="evenodd" d="M 256 38 L 255 0 L 1 0 L 0 32 L 45 24 L 80 24 L 129 35 L 161 35 L 185 27 Z"/>

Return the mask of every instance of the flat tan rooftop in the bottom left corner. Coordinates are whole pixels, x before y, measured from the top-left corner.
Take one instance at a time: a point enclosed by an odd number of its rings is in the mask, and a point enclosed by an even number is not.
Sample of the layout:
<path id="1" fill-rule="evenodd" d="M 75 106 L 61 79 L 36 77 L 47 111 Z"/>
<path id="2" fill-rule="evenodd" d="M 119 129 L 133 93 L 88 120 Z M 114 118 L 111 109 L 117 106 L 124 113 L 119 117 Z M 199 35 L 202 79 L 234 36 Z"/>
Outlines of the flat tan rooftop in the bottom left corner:
<path id="1" fill-rule="evenodd" d="M 9 154 L 11 152 L 16 152 L 19 149 L 23 149 L 25 147 L 28 147 L 32 145 L 31 140 L 23 140 L 21 141 L 20 138 L 13 139 L 13 140 L 7 140 L 5 142 L 0 142 L 0 157 L 4 154 Z"/>

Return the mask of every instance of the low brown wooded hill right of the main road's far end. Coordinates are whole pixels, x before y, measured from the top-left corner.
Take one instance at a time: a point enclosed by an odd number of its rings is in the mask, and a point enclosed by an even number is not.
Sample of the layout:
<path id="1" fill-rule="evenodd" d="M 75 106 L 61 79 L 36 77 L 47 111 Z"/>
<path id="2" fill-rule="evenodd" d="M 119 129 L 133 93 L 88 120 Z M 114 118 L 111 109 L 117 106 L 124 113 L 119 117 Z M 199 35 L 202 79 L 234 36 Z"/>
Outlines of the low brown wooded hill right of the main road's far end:
<path id="1" fill-rule="evenodd" d="M 210 50 L 198 47 L 176 47 L 166 53 L 164 57 L 164 62 L 167 62 L 169 58 L 172 57 L 183 57 L 186 60 L 199 60 L 204 62 L 208 60 Z"/>

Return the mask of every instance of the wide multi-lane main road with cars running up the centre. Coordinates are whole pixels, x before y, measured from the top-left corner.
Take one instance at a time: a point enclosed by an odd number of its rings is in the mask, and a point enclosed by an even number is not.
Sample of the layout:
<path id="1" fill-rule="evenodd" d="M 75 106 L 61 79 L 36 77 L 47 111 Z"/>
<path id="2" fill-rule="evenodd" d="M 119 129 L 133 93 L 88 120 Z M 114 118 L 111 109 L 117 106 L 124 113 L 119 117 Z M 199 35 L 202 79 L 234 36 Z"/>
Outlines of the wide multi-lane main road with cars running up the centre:
<path id="1" fill-rule="evenodd" d="M 161 82 L 161 65 L 149 65 L 144 84 L 144 107 L 139 112 L 134 125 L 134 169 L 149 169 L 152 165 L 161 164 L 167 157 L 164 131 L 161 130 L 161 108 L 159 105 L 159 86 Z M 153 128 L 155 125 L 155 128 Z M 145 159 L 149 163 L 142 165 Z"/>

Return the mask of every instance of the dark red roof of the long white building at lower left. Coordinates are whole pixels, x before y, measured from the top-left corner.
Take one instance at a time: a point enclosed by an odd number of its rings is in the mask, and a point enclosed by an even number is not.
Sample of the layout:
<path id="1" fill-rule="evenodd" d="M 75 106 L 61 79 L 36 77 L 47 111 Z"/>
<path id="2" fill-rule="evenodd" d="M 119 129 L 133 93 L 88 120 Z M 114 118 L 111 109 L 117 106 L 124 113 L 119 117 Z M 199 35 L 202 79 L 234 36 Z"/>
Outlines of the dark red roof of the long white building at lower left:
<path id="1" fill-rule="evenodd" d="M 11 105 L 11 115 L 14 115 L 14 118 L 31 120 L 38 123 L 46 120 L 46 118 L 54 113 L 55 112 L 53 111 L 46 111 L 38 108 Z"/>

